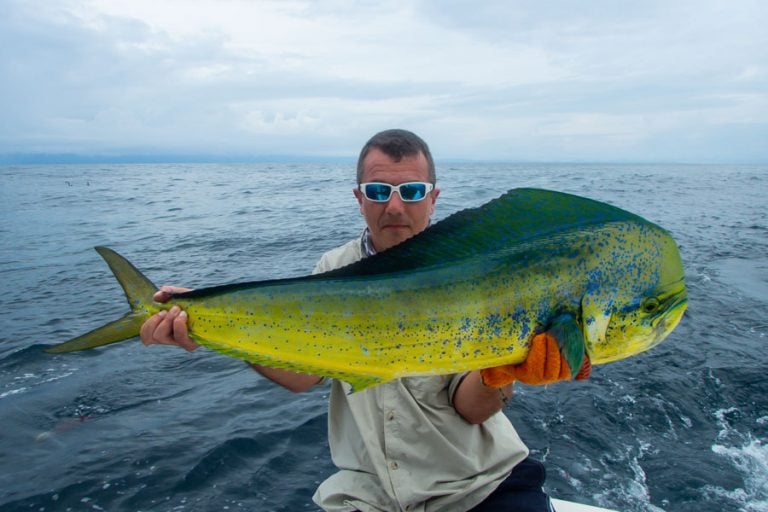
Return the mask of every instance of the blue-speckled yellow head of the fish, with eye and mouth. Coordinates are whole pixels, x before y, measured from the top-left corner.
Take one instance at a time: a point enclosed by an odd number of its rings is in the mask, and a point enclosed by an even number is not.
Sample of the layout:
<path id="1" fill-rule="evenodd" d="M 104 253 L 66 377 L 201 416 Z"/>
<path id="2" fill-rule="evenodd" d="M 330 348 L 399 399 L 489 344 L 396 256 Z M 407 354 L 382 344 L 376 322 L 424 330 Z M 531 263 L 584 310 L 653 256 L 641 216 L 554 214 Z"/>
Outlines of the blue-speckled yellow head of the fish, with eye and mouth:
<path id="1" fill-rule="evenodd" d="M 616 287 L 618 293 L 583 298 L 582 328 L 592 364 L 653 348 L 680 323 L 688 306 L 680 253 L 668 235 L 653 247 L 652 257 L 639 270 L 625 273 L 623 284 Z"/>

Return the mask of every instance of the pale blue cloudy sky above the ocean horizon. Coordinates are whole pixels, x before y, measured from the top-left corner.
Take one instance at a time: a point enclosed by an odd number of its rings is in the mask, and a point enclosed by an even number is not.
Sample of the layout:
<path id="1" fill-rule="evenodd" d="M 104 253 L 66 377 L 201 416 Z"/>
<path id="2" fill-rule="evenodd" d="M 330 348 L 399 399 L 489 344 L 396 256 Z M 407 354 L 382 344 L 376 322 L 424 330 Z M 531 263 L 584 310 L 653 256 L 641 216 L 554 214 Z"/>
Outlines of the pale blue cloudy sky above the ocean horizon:
<path id="1" fill-rule="evenodd" d="M 763 0 L 0 0 L 0 160 L 768 162 Z"/>

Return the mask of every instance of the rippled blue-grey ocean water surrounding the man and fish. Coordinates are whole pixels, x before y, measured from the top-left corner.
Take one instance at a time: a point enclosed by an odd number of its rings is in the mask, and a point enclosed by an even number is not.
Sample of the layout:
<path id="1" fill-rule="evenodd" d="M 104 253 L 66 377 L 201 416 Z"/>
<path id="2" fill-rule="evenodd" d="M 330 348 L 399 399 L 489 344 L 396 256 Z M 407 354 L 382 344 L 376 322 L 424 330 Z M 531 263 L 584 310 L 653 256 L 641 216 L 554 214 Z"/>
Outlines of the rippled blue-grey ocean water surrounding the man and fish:
<path id="1" fill-rule="evenodd" d="M 506 409 L 555 497 L 768 511 L 768 166 L 439 164 L 437 219 L 534 186 L 677 239 L 690 305 L 662 345 Z M 127 311 L 96 252 L 157 284 L 298 276 L 363 227 L 352 164 L 0 167 L 0 510 L 315 510 L 327 391 L 206 350 L 45 345 Z"/>

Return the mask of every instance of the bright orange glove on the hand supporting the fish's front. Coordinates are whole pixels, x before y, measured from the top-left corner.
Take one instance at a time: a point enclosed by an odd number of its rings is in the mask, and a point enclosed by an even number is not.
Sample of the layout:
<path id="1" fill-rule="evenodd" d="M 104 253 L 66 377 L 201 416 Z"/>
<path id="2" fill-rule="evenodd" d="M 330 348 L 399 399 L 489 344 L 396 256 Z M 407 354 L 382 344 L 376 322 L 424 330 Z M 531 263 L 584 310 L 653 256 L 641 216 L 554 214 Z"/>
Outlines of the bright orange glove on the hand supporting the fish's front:
<path id="1" fill-rule="evenodd" d="M 584 356 L 584 363 L 576 375 L 576 380 L 588 379 L 591 369 L 589 358 Z M 560 346 L 555 337 L 543 332 L 531 340 L 531 349 L 525 361 L 517 365 L 486 368 L 480 370 L 480 376 L 486 386 L 500 388 L 516 380 L 531 385 L 570 380 L 571 370 L 560 353 Z"/>

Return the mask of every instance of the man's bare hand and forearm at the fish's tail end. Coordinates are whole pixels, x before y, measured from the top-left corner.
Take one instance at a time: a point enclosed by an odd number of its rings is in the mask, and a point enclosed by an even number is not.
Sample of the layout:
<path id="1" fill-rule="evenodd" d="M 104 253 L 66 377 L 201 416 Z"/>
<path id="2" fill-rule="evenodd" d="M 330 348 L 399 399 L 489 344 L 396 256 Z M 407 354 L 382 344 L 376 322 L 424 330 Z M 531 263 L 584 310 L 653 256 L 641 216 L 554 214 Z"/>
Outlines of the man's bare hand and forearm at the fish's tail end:
<path id="1" fill-rule="evenodd" d="M 189 288 L 162 286 L 153 298 L 157 302 L 167 302 L 173 293 L 186 291 L 189 291 Z M 188 352 L 200 348 L 200 345 L 189 337 L 187 314 L 177 306 L 174 306 L 169 311 L 161 311 L 150 317 L 141 326 L 140 335 L 141 341 L 145 345 L 176 345 Z M 317 375 L 308 375 L 280 368 L 268 368 L 252 363 L 248 363 L 248 365 L 262 376 L 294 393 L 307 391 L 322 380 L 322 377 Z"/>

